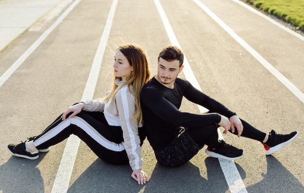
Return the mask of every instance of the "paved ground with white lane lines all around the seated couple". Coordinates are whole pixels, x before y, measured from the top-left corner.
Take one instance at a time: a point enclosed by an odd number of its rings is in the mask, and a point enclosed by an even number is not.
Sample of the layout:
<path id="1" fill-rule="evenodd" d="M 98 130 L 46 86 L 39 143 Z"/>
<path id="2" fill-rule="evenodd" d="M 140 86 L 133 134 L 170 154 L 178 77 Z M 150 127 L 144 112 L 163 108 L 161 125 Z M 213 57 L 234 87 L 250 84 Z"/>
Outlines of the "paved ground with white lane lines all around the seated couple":
<path id="1" fill-rule="evenodd" d="M 79 0 L 52 28 L 75 1 L 0 0 L 0 73 L 26 58 L 3 85 L 0 81 L 0 133 L 5 136 L 0 140 L 0 193 L 304 192 L 303 39 L 236 0 Z M 51 32 L 44 36 L 47 29 Z M 45 39 L 24 57 L 42 36 Z M 144 186 L 130 177 L 128 164 L 105 163 L 83 142 L 65 140 L 33 161 L 11 156 L 8 143 L 39 134 L 68 105 L 87 97 L 85 84 L 94 57 L 101 55 L 99 45 L 106 45 L 106 54 L 91 94 L 97 98 L 107 91 L 110 85 L 105 83 L 112 78 L 106 67 L 111 67 L 109 53 L 117 37 L 118 42 L 123 37 L 144 47 L 152 74 L 159 50 L 180 45 L 192 69 L 185 67 L 180 77 L 197 83 L 263 132 L 298 130 L 299 136 L 292 145 L 265 156 L 257 141 L 227 134 L 225 140 L 243 148 L 244 157 L 224 162 L 202 150 L 174 169 L 157 164 L 146 140 L 143 169 L 150 181 Z M 186 100 L 181 110 L 202 113 Z"/>

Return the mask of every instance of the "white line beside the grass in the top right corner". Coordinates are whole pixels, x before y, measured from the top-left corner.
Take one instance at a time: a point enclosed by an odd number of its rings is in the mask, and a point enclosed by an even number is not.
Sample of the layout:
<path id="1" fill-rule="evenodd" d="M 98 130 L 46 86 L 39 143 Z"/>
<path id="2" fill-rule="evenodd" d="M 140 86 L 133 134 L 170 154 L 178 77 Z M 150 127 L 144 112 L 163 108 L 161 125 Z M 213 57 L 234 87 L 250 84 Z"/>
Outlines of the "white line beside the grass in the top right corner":
<path id="1" fill-rule="evenodd" d="M 267 21 L 269 21 L 270 23 L 272 23 L 273 25 L 281 28 L 282 30 L 285 30 L 287 31 L 288 33 L 290 33 L 291 35 L 294 35 L 296 36 L 297 38 L 299 38 L 300 40 L 303 40 L 304 41 L 304 36 L 302 36 L 301 34 L 293 31 L 293 30 L 290 30 L 289 28 L 287 28 L 286 26 L 280 24 L 279 22 L 277 22 L 276 20 L 270 18 L 269 16 L 265 15 L 265 14 L 262 14 L 261 12 L 257 11 L 256 9 L 254 9 L 253 7 L 247 5 L 246 3 L 240 1 L 240 0 L 233 0 L 234 2 L 236 2 L 237 4 L 245 7 L 246 9 L 252 11 L 254 14 L 256 15 L 259 15 L 261 17 L 263 17 L 264 19 L 266 19 Z"/>

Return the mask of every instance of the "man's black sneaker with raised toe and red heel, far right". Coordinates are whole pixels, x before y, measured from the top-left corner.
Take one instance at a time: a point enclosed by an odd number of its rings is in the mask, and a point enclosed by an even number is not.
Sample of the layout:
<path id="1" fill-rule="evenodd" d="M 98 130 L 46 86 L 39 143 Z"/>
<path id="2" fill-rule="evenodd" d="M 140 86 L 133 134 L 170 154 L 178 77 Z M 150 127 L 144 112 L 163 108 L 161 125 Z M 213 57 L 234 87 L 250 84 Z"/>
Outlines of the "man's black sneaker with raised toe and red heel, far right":
<path id="1" fill-rule="evenodd" d="M 290 134 L 276 134 L 275 131 L 271 130 L 269 138 L 266 143 L 262 143 L 266 150 L 266 155 L 276 152 L 280 148 L 290 143 L 299 133 L 297 131 Z"/>

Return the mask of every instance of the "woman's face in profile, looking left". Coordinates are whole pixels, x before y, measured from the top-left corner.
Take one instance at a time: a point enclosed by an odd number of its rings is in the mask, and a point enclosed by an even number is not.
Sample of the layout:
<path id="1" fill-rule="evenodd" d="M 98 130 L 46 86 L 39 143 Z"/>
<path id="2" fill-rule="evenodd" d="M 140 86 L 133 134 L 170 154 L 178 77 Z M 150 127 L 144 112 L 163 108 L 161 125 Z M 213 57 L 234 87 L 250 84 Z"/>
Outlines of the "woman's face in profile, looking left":
<path id="1" fill-rule="evenodd" d="M 121 77 L 122 80 L 125 80 L 127 76 L 132 74 L 133 67 L 130 65 L 128 59 L 117 50 L 114 56 L 114 75 L 116 77 Z"/>

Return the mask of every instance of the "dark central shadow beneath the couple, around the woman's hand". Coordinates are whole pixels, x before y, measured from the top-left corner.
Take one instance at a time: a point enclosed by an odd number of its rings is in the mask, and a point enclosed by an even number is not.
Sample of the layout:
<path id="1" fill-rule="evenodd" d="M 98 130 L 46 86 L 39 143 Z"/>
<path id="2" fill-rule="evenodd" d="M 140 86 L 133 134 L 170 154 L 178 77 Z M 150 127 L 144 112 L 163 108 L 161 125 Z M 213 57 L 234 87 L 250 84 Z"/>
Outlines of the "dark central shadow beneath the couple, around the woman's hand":
<path id="1" fill-rule="evenodd" d="M 146 161 L 147 162 L 147 161 Z M 70 186 L 68 193 L 219 193 L 228 186 L 218 159 L 206 158 L 207 176 L 203 178 L 200 168 L 188 162 L 180 167 L 165 167 L 155 164 L 150 181 L 136 184 L 131 178 L 131 168 L 126 165 L 112 165 L 96 159 Z"/>

